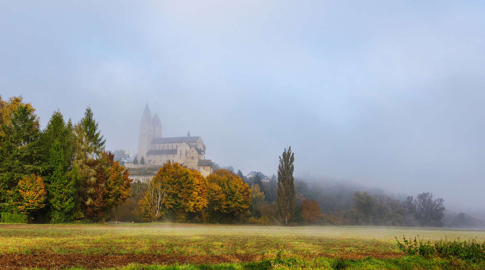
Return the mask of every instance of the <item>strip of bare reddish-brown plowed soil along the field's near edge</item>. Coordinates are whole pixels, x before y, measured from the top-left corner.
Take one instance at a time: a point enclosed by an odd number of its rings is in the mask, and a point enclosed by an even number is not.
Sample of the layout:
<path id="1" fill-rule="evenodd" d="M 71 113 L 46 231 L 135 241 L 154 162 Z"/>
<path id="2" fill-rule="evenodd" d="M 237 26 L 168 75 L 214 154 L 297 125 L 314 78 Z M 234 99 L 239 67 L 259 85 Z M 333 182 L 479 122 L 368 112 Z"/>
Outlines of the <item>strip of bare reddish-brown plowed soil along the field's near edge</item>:
<path id="1" fill-rule="evenodd" d="M 395 258 L 402 253 L 344 253 L 319 254 L 328 257 L 341 257 L 346 259 L 361 259 L 372 255 L 374 258 Z M 309 258 L 312 256 L 310 255 Z M 259 261 L 260 255 L 192 255 L 172 256 L 156 254 L 1 254 L 0 270 L 22 270 L 29 268 L 64 269 L 66 267 L 84 267 L 86 269 L 102 269 L 122 267 L 129 263 L 144 264 L 219 264 Z"/>

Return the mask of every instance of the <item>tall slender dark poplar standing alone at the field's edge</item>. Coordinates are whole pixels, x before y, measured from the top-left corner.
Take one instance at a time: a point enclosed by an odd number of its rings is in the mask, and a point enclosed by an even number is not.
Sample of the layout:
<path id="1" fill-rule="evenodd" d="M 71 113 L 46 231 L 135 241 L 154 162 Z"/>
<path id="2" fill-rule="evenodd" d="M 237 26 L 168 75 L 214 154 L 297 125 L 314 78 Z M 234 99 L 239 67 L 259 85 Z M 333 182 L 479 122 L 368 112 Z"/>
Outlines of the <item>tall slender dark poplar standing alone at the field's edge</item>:
<path id="1" fill-rule="evenodd" d="M 291 146 L 288 150 L 283 152 L 282 157 L 279 157 L 278 166 L 278 196 L 276 203 L 281 217 L 285 220 L 285 224 L 289 225 L 293 217 L 295 199 L 295 187 L 293 184 L 294 171 L 294 153 L 291 153 Z"/>

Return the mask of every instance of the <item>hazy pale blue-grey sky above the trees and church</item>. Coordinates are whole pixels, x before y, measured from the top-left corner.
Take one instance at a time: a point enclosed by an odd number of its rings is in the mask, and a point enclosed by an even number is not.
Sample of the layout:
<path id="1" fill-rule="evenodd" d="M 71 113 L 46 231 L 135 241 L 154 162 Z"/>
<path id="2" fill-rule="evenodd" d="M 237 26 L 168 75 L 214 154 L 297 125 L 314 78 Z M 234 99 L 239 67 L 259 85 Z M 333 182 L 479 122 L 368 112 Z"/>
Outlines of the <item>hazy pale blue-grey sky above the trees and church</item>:
<path id="1" fill-rule="evenodd" d="M 89 105 L 107 149 L 201 136 L 246 175 L 347 178 L 485 207 L 484 1 L 0 0 L 0 94 L 44 126 Z"/>

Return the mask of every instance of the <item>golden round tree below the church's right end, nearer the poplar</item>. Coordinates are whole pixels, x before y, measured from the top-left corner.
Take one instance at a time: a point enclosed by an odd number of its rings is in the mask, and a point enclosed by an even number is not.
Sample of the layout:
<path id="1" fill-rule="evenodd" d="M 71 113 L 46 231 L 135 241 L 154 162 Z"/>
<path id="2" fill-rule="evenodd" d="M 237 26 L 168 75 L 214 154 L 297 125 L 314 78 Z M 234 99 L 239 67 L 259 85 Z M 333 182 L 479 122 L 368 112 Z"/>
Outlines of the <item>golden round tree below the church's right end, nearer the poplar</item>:
<path id="1" fill-rule="evenodd" d="M 251 191 L 239 175 L 219 169 L 207 176 L 207 183 L 212 206 L 209 211 L 213 220 L 230 222 L 236 216 L 242 218 L 246 214 L 251 205 Z"/>

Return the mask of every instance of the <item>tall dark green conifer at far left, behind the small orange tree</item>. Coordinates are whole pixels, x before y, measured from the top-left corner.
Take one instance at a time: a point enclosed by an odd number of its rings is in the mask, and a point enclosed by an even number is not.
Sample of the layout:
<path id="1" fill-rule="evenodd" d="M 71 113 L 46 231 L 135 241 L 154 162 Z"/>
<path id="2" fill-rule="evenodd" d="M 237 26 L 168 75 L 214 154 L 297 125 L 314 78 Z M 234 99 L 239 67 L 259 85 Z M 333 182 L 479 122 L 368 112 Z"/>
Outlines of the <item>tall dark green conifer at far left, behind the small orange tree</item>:
<path id="1" fill-rule="evenodd" d="M 4 108 L 5 109 L 5 108 Z M 5 115 L 8 116 L 8 113 Z M 0 125 L 0 200 L 26 175 L 44 170 L 39 144 L 38 118 L 29 104 L 19 104 L 9 121 Z M 5 124 L 8 122 L 7 124 Z"/>

